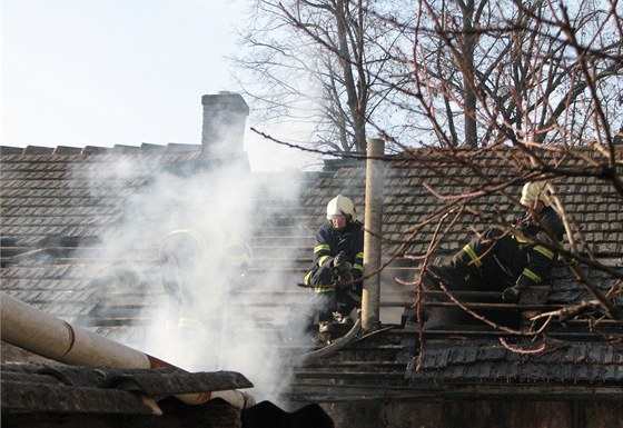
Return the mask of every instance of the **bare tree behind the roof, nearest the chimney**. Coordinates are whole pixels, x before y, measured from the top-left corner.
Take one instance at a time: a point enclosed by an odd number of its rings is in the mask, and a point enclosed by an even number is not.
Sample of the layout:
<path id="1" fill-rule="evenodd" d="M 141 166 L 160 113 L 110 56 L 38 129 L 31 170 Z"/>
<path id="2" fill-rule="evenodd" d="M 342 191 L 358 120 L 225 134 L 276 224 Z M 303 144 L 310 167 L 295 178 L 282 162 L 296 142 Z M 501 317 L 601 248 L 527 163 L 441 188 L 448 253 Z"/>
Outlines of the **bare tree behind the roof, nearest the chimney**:
<path id="1" fill-rule="evenodd" d="M 394 86 L 392 43 L 402 29 L 370 20 L 367 0 L 257 0 L 236 58 L 240 84 L 264 120 L 314 123 L 313 143 L 365 151 L 367 127 Z"/>

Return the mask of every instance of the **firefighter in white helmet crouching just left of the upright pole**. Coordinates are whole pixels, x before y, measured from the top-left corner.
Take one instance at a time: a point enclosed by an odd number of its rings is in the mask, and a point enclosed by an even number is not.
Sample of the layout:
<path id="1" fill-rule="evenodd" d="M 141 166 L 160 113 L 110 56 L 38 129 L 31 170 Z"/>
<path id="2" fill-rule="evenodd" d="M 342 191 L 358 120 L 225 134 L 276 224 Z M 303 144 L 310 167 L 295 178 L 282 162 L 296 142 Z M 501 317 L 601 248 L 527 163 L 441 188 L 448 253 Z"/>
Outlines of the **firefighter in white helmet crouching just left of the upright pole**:
<path id="1" fill-rule="evenodd" d="M 346 321 L 362 307 L 364 231 L 353 201 L 342 195 L 333 198 L 327 203 L 327 220 L 316 232 L 314 263 L 305 276 L 305 285 L 317 293 L 317 345 L 330 344 L 334 322 Z"/>

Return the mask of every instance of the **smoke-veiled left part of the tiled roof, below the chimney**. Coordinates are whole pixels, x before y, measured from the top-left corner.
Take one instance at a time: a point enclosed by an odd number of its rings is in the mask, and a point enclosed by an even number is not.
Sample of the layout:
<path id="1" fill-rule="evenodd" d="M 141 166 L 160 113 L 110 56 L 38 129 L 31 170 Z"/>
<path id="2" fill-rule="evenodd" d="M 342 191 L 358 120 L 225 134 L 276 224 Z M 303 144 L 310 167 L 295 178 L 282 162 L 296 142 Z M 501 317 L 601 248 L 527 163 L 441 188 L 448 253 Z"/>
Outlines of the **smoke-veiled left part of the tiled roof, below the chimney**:
<path id="1" fill-rule="evenodd" d="M 218 170 L 227 160 L 202 159 L 200 146 L 191 145 L 79 151 L 2 148 L 1 156 L 2 291 L 113 339 L 145 335 L 141 326 L 161 309 L 157 301 L 165 295 L 160 240 L 180 225 L 201 222 L 198 217 L 218 208 L 184 201 L 180 209 L 178 199 L 186 198 L 184 180 Z M 132 198 L 158 176 L 168 175 L 174 181 L 180 180 L 180 186 L 172 189 L 177 195 L 150 200 L 152 209 L 141 211 L 144 202 Z M 306 175 L 300 177 L 306 180 Z M 255 173 L 254 180 L 257 190 L 248 202 L 257 205 L 253 219 L 258 228 L 249 238 L 256 260 L 253 276 L 283 278 L 300 293 L 305 290 L 297 289 L 296 283 L 309 265 L 308 255 L 300 255 L 312 247 L 315 228 L 294 227 L 300 219 L 306 221 L 306 210 L 300 208 L 297 193 L 274 190 L 275 183 L 279 189 L 288 187 L 283 183 L 283 175 Z M 209 203 L 215 191 L 211 180 L 201 185 L 201 195 Z M 230 191 L 234 198 L 235 190 Z M 121 242 L 126 223 L 137 219 L 140 231 Z M 240 229 L 230 221 L 228 229 Z M 254 225 L 244 227 L 254 229 Z M 111 249 L 111 240 L 121 243 L 112 243 Z M 298 253 L 294 256 L 298 267 L 279 267 L 291 263 L 285 251 L 288 256 Z M 254 283 L 261 287 L 260 281 Z"/>

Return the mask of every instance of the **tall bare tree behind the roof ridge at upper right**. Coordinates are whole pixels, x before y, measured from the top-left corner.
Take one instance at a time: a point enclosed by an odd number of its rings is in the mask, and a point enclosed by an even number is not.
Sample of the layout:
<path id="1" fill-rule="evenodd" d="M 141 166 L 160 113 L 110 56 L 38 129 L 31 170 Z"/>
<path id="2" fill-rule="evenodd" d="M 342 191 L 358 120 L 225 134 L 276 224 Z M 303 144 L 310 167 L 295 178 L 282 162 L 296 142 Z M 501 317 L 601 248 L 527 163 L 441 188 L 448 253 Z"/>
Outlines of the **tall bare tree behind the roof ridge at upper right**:
<path id="1" fill-rule="evenodd" d="M 428 110 L 445 111 L 435 118 L 442 146 L 558 142 L 565 136 L 552 129 L 571 113 L 574 137 L 585 141 L 595 131 L 594 96 L 609 127 L 621 121 L 615 2 L 571 4 L 573 16 L 562 1 L 419 1 L 417 22 L 433 26 L 413 29 L 413 93 Z"/>

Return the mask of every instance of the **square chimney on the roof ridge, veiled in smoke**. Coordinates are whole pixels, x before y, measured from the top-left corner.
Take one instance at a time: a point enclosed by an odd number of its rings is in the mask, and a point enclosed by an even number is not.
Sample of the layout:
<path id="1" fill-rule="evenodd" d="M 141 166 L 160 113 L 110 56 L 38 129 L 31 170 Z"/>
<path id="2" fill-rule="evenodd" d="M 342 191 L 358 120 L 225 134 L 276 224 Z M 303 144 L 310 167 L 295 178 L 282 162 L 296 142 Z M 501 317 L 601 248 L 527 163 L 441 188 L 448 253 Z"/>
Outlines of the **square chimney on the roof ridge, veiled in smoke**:
<path id="1" fill-rule="evenodd" d="M 204 127 L 201 153 L 210 159 L 246 159 L 245 123 L 249 106 L 238 93 L 219 92 L 201 97 Z"/>

